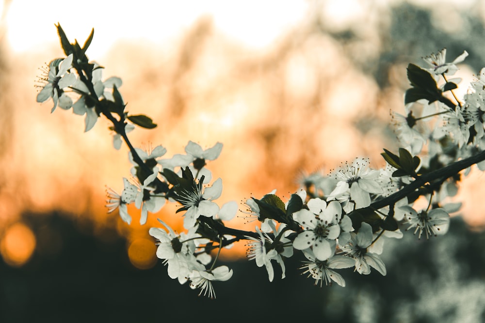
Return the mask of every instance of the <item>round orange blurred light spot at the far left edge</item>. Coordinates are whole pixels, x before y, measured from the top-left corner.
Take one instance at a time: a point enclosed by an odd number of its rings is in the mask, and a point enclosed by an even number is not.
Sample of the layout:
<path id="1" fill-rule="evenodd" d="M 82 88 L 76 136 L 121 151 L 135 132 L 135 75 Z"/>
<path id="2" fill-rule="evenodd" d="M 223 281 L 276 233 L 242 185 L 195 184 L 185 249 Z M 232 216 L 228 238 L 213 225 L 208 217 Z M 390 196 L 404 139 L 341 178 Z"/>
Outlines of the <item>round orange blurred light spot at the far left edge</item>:
<path id="1" fill-rule="evenodd" d="M 0 241 L 0 253 L 6 263 L 20 267 L 29 261 L 35 245 L 32 230 L 25 224 L 17 222 L 5 231 Z"/>

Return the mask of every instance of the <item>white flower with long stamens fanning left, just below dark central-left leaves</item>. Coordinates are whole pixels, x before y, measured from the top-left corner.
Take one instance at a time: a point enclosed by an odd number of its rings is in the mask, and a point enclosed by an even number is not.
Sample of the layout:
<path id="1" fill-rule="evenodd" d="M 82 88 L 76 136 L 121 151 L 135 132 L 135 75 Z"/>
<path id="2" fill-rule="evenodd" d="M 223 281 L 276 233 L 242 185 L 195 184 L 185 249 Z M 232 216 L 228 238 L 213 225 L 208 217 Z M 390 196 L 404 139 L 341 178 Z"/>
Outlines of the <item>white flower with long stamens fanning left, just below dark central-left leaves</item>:
<path id="1" fill-rule="evenodd" d="M 193 185 L 193 190 L 183 190 L 177 192 L 178 202 L 180 202 L 187 212 L 184 216 L 183 226 L 189 229 L 195 225 L 197 218 L 200 215 L 213 217 L 219 212 L 219 206 L 212 202 L 221 196 L 222 180 L 218 178 L 212 186 L 203 188 L 202 183 Z"/>

